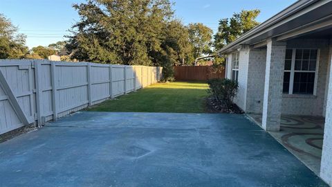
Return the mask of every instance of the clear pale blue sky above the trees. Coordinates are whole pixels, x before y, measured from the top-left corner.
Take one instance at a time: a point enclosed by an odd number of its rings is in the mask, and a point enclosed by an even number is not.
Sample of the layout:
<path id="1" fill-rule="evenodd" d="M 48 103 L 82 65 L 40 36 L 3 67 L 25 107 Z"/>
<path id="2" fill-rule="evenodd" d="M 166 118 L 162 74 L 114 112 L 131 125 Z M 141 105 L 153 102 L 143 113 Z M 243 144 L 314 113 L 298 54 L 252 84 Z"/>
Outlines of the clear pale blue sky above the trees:
<path id="1" fill-rule="evenodd" d="M 64 40 L 63 35 L 75 21 L 79 20 L 73 3 L 84 0 L 0 0 L 0 13 L 19 26 L 19 32 L 26 34 L 27 45 L 48 46 Z M 234 12 L 259 8 L 258 21 L 265 21 L 295 0 L 173 0 L 176 17 L 184 24 L 201 22 L 216 32 L 218 20 L 231 17 Z"/>

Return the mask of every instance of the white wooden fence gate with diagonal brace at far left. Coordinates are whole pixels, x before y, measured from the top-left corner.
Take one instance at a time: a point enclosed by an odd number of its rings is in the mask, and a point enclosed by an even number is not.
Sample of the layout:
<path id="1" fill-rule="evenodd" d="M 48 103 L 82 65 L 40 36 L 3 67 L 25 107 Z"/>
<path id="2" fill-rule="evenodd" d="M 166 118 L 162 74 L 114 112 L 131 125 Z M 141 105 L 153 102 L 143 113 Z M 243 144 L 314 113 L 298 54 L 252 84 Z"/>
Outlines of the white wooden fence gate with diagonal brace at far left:
<path id="1" fill-rule="evenodd" d="M 35 121 L 34 73 L 31 62 L 0 65 L 0 134 Z"/>

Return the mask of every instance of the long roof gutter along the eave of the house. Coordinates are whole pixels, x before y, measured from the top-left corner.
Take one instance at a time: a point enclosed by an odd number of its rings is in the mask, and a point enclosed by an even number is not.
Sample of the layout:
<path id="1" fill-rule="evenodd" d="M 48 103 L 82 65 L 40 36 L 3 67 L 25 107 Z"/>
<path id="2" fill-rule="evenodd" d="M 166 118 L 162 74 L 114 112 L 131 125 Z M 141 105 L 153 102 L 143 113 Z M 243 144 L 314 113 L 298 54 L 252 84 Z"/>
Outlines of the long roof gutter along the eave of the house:
<path id="1" fill-rule="evenodd" d="M 303 10 L 304 8 L 307 8 L 308 6 L 311 6 L 313 3 L 316 3 L 320 0 L 299 0 L 295 3 L 293 3 L 291 6 L 288 6 L 288 8 L 282 10 L 281 12 L 277 13 L 277 15 L 271 17 L 270 19 L 264 21 L 263 23 L 259 24 L 255 28 L 252 28 L 252 30 L 249 30 L 247 33 L 241 35 L 238 39 L 236 39 L 234 42 L 228 44 L 227 46 L 221 48 L 220 50 L 216 51 L 217 54 L 220 55 L 220 53 L 225 53 L 225 51 L 229 50 L 230 48 L 233 48 L 234 46 L 237 46 L 241 44 L 241 42 L 246 42 L 248 39 L 252 38 L 254 35 L 261 34 L 262 31 L 271 30 L 273 25 L 283 21 L 287 17 L 291 17 L 292 15 L 296 15 L 297 12 L 300 10 Z M 329 0 L 320 1 L 320 3 L 327 3 Z"/>

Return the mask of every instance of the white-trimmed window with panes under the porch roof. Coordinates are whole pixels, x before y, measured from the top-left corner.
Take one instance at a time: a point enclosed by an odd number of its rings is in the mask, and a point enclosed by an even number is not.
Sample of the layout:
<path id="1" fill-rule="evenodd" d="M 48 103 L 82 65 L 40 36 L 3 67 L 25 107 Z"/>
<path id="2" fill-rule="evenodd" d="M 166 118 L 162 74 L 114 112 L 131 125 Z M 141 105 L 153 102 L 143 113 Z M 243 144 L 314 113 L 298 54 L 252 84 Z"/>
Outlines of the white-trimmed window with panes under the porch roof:
<path id="1" fill-rule="evenodd" d="M 283 85 L 284 94 L 316 94 L 318 57 L 318 49 L 286 49 Z"/>

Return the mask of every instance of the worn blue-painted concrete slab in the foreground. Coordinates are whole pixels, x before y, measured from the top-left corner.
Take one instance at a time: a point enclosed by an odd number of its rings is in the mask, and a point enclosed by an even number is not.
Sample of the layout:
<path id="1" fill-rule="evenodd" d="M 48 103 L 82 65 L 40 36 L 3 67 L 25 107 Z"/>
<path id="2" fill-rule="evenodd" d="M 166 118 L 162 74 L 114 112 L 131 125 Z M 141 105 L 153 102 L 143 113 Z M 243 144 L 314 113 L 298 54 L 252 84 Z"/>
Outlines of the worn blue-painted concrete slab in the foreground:
<path id="1" fill-rule="evenodd" d="M 0 144 L 0 186 L 326 186 L 243 115 L 79 112 Z"/>

